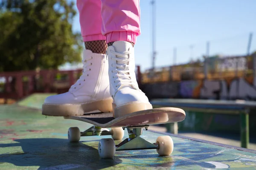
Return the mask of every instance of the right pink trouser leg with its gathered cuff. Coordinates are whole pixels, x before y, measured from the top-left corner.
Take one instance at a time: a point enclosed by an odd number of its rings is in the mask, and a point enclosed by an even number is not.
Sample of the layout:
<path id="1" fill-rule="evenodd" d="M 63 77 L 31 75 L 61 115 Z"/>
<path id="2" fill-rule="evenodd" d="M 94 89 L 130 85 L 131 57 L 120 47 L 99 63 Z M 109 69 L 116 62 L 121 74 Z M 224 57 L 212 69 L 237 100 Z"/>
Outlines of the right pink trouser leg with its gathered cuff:
<path id="1" fill-rule="evenodd" d="M 128 41 L 135 44 L 140 35 L 139 0 L 102 0 L 101 13 L 102 34 L 107 43 Z"/>

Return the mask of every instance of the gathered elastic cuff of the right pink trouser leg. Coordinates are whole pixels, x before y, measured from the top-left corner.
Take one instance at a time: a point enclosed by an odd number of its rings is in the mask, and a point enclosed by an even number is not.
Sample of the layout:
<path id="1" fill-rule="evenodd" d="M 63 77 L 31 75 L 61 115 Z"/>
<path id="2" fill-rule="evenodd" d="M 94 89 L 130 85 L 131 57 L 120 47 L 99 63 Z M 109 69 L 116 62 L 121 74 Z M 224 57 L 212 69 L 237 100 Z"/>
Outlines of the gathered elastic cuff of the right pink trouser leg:
<path id="1" fill-rule="evenodd" d="M 106 34 L 106 42 L 128 41 L 136 43 L 139 34 L 133 31 L 116 31 Z"/>

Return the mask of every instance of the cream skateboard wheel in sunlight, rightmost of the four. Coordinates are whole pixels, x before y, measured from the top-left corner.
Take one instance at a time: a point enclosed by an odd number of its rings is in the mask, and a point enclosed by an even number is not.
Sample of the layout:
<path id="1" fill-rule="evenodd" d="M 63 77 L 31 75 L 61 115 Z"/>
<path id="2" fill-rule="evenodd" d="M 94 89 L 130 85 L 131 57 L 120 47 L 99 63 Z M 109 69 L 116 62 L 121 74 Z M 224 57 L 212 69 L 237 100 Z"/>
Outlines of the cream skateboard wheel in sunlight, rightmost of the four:
<path id="1" fill-rule="evenodd" d="M 160 156 L 168 156 L 173 151 L 173 141 L 170 136 L 159 136 L 156 143 L 158 144 L 157 153 Z"/>

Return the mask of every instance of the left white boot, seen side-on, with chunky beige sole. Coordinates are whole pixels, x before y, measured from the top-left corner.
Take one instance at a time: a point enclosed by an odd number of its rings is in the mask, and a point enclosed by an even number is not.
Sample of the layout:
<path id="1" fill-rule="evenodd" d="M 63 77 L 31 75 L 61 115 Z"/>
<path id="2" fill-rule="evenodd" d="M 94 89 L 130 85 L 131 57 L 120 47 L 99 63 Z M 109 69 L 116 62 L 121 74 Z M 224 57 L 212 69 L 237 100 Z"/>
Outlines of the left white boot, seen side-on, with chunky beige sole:
<path id="1" fill-rule="evenodd" d="M 83 74 L 67 93 L 45 99 L 42 114 L 75 116 L 95 110 L 112 112 L 106 55 L 84 50 L 83 64 Z"/>

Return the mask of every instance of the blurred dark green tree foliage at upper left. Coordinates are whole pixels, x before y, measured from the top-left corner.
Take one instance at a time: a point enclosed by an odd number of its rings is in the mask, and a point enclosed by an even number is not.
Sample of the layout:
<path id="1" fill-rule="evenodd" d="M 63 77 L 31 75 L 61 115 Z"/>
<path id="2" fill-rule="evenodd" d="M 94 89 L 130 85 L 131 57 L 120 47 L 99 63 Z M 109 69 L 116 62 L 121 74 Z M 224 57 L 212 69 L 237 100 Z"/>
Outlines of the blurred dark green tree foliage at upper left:
<path id="1" fill-rule="evenodd" d="M 74 3 L 66 0 L 2 0 L 0 71 L 80 62 L 81 35 L 72 32 L 75 15 Z"/>

